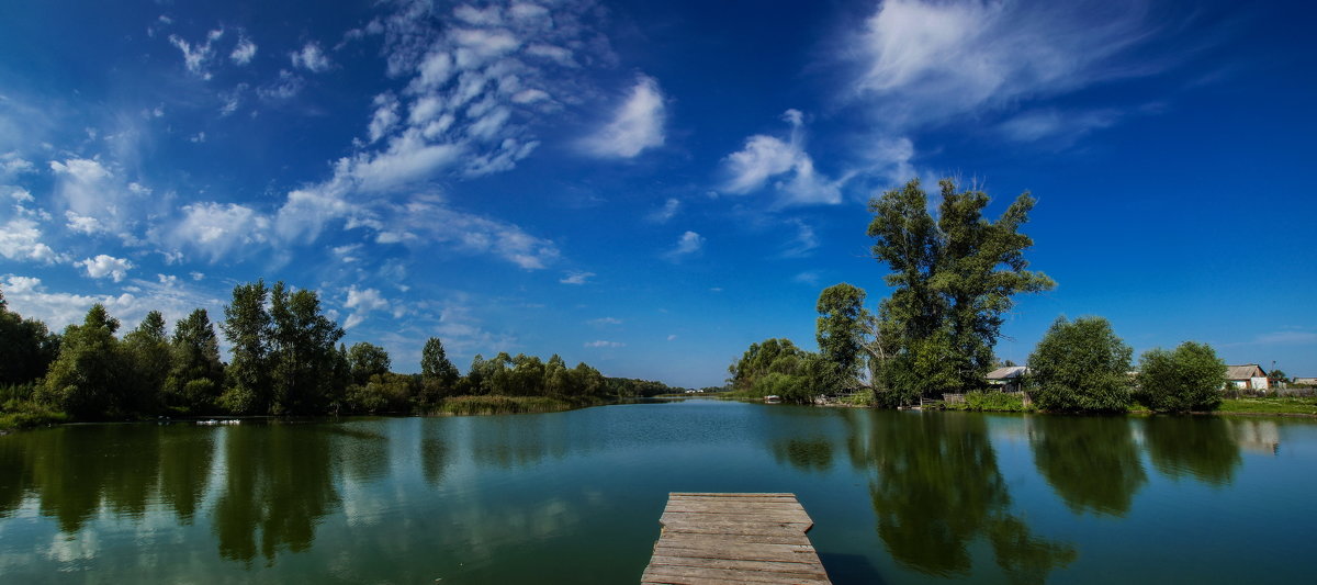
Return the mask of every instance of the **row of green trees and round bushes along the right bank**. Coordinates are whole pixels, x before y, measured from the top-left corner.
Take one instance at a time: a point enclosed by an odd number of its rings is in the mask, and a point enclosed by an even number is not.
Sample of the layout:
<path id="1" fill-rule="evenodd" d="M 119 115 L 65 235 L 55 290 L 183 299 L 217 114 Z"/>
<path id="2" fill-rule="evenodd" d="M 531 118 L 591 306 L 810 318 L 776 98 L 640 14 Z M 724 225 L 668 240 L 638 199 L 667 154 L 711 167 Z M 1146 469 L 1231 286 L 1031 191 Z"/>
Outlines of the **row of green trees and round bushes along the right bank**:
<path id="1" fill-rule="evenodd" d="M 793 402 L 859 391 L 871 404 L 900 407 L 943 393 L 986 389 L 985 376 L 997 364 L 993 347 L 1014 298 L 1056 283 L 1030 270 L 1025 258 L 1034 241 L 1019 231 L 1036 203 L 1027 191 L 989 220 L 984 191 L 960 190 L 951 179 L 939 186 L 936 215 L 918 179 L 869 202 L 872 254 L 888 266 L 884 282 L 892 289 L 877 311 L 865 307 L 860 287 L 843 282 L 824 289 L 815 306 L 819 350 L 786 339 L 751 344 L 728 368 L 732 390 Z M 1089 331 L 1094 321 L 1076 323 L 1084 331 L 1081 340 L 1060 343 L 1067 350 L 1054 348 L 1052 337 L 1064 337 L 1073 325 L 1062 319 L 1055 336 L 1048 332 L 1030 358 L 1034 373 L 1027 385 L 1043 408 L 1123 410 L 1138 395 L 1154 410 L 1200 410 L 1212 406 L 1204 397 L 1220 394 L 1225 365 L 1206 345 L 1148 352 L 1143 374 L 1134 378 L 1129 352 L 1096 354 L 1102 345 Z M 1191 369 L 1195 376 L 1185 374 Z"/>

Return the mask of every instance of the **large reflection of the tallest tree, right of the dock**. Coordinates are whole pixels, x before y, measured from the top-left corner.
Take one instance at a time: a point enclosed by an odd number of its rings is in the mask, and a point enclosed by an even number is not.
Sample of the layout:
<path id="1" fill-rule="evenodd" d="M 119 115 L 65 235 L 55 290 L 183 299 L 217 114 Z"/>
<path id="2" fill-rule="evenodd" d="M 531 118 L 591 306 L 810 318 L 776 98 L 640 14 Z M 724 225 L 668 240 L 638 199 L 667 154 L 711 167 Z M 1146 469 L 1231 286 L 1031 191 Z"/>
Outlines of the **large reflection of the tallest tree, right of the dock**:
<path id="1" fill-rule="evenodd" d="M 1010 513 L 1006 482 L 982 416 L 846 412 L 851 462 L 869 482 L 878 536 L 903 567 L 968 576 L 969 544 L 985 538 L 1011 581 L 1042 582 L 1076 557 L 1069 544 L 1034 536 Z"/>

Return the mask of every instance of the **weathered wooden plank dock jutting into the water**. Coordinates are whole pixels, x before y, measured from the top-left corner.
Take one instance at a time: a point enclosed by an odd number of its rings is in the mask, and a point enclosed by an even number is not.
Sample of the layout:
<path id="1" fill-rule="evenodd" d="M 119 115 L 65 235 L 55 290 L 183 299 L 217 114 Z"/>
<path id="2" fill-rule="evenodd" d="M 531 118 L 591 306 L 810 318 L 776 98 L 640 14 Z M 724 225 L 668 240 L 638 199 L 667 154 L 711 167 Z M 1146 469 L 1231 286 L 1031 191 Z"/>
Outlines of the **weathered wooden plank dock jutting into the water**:
<path id="1" fill-rule="evenodd" d="M 643 585 L 831 584 L 794 494 L 668 494 Z"/>

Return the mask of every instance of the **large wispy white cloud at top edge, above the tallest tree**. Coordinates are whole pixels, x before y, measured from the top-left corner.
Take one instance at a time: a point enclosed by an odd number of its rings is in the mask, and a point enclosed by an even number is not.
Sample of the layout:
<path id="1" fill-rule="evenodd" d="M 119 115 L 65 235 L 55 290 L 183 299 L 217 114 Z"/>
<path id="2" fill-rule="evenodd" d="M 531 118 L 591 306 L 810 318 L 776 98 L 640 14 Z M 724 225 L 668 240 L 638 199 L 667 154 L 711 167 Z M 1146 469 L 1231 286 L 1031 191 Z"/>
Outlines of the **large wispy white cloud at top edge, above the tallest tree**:
<path id="1" fill-rule="evenodd" d="M 1147 4 L 886 0 L 849 50 L 855 94 L 907 125 L 1147 74 L 1115 62 L 1147 38 Z"/>

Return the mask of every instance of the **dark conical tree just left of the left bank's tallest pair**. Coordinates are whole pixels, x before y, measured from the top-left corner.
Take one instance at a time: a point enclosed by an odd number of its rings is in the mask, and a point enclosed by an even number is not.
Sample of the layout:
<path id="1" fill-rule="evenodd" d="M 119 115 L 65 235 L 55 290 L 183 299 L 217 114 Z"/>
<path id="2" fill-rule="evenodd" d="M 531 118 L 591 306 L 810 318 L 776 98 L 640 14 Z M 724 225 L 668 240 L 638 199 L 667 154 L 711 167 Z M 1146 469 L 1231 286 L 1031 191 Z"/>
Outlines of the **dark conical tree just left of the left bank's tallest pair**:
<path id="1" fill-rule="evenodd" d="M 220 343 L 204 308 L 192 311 L 174 325 L 170 341 L 173 368 L 165 381 L 165 406 L 182 412 L 215 408 L 224 387 Z"/>

